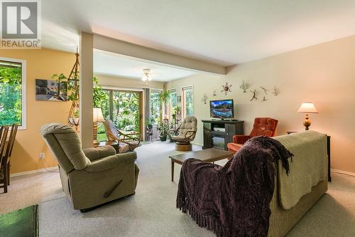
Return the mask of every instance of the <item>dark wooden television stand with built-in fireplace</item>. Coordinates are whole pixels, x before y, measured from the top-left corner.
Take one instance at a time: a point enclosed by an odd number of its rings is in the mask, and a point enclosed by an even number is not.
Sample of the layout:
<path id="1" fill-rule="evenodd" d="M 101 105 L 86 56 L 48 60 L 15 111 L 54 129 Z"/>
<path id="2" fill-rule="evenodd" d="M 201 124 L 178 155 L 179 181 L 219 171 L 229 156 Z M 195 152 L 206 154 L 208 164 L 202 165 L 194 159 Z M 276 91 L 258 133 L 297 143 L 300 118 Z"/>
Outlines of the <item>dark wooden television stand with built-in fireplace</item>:
<path id="1" fill-rule="evenodd" d="M 241 120 L 202 120 L 203 147 L 227 149 L 234 135 L 244 135 L 244 121 Z"/>

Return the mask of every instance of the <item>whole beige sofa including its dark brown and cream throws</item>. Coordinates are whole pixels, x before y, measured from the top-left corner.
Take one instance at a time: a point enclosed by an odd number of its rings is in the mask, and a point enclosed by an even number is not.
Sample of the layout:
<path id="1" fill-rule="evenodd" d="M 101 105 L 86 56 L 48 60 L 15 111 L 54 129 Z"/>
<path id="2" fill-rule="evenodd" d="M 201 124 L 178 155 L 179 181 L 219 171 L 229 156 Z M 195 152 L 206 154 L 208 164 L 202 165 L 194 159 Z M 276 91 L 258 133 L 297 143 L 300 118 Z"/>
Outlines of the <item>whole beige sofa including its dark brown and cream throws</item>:
<path id="1" fill-rule="evenodd" d="M 176 206 L 218 237 L 285 236 L 327 191 L 327 136 L 253 137 L 219 166 L 182 164 Z"/>

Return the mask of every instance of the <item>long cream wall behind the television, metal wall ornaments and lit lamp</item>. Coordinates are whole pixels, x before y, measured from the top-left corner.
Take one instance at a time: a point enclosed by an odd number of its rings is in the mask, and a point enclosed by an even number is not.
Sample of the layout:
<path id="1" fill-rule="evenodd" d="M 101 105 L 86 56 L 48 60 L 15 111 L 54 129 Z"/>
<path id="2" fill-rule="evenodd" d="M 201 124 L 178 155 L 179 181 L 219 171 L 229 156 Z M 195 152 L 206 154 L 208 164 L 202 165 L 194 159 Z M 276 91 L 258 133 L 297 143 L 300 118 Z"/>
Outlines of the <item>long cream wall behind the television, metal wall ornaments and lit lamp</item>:
<path id="1" fill-rule="evenodd" d="M 258 90 L 258 100 L 251 102 L 251 93 L 239 89 L 242 80 Z M 232 84 L 231 93 L 221 93 L 222 85 Z M 355 36 L 302 48 L 278 56 L 255 60 L 228 68 L 224 76 L 195 75 L 167 83 L 181 95 L 184 85 L 194 85 L 195 116 L 199 120 L 195 142 L 202 144 L 202 119 L 209 119 L 209 100 L 233 98 L 236 118 L 245 121 L 249 134 L 254 117 L 279 120 L 278 135 L 286 131 L 304 130 L 305 115 L 297 113 L 302 102 L 313 102 L 320 112 L 310 115 L 310 130 L 332 136 L 332 168 L 355 172 Z M 280 88 L 277 97 L 268 92 L 261 102 L 260 86 Z M 216 90 L 217 96 L 212 97 Z"/>

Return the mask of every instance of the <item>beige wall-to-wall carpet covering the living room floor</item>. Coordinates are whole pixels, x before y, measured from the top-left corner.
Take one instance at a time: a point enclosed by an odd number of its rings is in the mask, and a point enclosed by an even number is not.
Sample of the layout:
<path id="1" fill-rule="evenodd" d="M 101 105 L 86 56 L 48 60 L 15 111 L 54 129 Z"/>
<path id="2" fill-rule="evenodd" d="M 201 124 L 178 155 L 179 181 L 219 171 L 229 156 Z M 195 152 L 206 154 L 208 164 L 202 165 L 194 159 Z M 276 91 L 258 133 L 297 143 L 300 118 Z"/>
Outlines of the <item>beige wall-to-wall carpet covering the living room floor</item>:
<path id="1" fill-rule="evenodd" d="M 171 182 L 168 159 L 174 144 L 144 144 L 137 153 L 136 195 L 81 214 L 64 196 L 58 173 L 45 172 L 11 179 L 9 193 L 0 194 L 0 214 L 40 204 L 40 236 L 214 236 L 175 209 L 180 166 Z M 288 236 L 355 236 L 355 177 L 332 178 L 327 194 Z"/>

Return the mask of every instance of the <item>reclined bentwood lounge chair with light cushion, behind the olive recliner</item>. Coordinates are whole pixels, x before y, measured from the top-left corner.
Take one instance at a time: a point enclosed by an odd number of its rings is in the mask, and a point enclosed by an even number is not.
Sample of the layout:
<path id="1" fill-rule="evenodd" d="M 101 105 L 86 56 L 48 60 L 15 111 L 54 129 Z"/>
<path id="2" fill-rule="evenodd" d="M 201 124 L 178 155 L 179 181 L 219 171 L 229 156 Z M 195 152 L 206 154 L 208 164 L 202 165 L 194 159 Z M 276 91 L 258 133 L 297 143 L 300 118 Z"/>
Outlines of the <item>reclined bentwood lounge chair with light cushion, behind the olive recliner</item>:
<path id="1" fill-rule="evenodd" d="M 133 152 L 134 149 L 141 146 L 141 135 L 139 133 L 126 134 L 121 132 L 114 126 L 111 120 L 105 120 L 103 124 L 109 141 L 123 144 L 119 149 L 120 153 Z"/>

